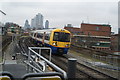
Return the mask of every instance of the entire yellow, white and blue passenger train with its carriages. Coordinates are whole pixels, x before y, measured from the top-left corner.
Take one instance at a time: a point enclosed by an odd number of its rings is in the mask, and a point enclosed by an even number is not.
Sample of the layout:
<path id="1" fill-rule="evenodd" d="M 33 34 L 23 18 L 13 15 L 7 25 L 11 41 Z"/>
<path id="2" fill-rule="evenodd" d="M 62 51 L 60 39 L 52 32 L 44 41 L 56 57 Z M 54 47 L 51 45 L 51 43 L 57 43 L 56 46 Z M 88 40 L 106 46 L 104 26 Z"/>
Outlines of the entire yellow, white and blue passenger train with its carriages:
<path id="1" fill-rule="evenodd" d="M 37 45 L 50 47 L 52 54 L 67 54 L 71 44 L 71 33 L 66 29 L 34 30 L 30 36 Z"/>

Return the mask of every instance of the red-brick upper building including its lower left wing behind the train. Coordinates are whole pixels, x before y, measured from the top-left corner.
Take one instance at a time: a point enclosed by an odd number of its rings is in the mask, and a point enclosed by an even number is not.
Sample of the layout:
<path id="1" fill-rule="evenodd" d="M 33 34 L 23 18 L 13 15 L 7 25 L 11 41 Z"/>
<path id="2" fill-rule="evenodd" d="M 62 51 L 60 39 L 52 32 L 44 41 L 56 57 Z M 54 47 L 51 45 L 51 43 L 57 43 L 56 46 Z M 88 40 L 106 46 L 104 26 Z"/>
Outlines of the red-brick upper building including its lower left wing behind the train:
<path id="1" fill-rule="evenodd" d="M 111 26 L 107 24 L 88 24 L 81 23 L 81 28 L 65 26 L 72 34 L 91 35 L 91 36 L 110 36 Z"/>

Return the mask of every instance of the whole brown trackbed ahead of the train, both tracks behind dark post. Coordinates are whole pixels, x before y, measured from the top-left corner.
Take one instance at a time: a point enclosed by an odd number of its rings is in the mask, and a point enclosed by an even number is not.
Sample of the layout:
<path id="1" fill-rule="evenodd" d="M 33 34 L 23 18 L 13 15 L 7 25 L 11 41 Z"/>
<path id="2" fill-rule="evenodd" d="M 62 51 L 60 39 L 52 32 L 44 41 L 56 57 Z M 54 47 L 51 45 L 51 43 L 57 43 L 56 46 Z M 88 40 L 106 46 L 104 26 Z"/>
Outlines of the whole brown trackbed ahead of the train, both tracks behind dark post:
<path id="1" fill-rule="evenodd" d="M 46 58 L 49 58 L 47 55 L 44 56 Z M 68 58 L 70 58 L 70 56 L 53 55 L 52 57 L 53 57 L 52 61 L 55 62 L 56 65 L 58 65 L 67 72 L 67 63 L 68 63 Z M 87 80 L 117 80 L 97 70 L 91 69 L 90 67 L 85 66 L 79 62 L 77 62 L 76 78 L 87 79 Z"/>

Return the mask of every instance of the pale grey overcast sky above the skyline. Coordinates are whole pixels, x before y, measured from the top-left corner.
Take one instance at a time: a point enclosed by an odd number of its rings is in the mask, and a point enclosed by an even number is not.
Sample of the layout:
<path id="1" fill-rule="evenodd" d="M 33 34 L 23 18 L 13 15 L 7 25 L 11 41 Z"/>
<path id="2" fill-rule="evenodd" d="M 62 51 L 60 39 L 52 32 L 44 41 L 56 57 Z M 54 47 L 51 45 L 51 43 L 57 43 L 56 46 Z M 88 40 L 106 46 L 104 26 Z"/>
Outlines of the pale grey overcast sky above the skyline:
<path id="1" fill-rule="evenodd" d="M 15 22 L 24 26 L 27 19 L 41 13 L 50 27 L 63 28 L 66 24 L 80 27 L 82 21 L 91 24 L 110 24 L 112 31 L 118 30 L 118 2 L 2 2 L 0 10 L 7 15 L 2 22 Z"/>

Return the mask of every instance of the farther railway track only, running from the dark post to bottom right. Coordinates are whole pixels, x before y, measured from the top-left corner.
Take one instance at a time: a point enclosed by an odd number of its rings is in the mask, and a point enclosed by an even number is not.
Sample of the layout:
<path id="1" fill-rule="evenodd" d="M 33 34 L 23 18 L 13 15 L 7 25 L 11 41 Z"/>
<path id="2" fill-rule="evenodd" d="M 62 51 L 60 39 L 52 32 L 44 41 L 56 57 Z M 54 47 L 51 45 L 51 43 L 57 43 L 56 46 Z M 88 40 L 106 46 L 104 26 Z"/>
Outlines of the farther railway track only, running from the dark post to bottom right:
<path id="1" fill-rule="evenodd" d="M 64 56 L 64 58 L 72 57 L 71 55 Z M 77 62 L 77 68 L 83 72 L 88 74 L 89 76 L 92 76 L 93 78 L 96 78 L 97 80 L 117 80 L 116 78 L 113 78 L 109 75 L 106 75 L 98 70 L 95 70 L 89 66 L 86 66 L 84 64 L 81 64 L 80 62 Z"/>

